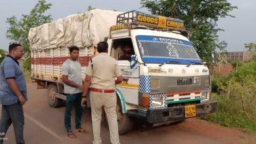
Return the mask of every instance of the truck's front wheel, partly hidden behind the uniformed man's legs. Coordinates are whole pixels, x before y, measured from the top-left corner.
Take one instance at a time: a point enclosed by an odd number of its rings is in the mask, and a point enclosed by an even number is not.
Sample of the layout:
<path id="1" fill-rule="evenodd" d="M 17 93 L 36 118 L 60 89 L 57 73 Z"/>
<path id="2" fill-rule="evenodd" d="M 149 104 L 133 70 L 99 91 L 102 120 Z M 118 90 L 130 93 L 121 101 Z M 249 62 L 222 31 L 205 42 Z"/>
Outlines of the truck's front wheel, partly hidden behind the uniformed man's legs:
<path id="1" fill-rule="evenodd" d="M 116 114 L 117 114 L 118 132 L 119 132 L 119 135 L 122 135 L 133 130 L 134 121 L 131 117 L 128 117 L 127 115 L 122 113 L 120 105 L 121 103 L 119 101 L 119 98 L 117 98 Z M 106 120 L 104 121 L 104 124 L 108 128 L 107 117 L 106 117 Z"/>

